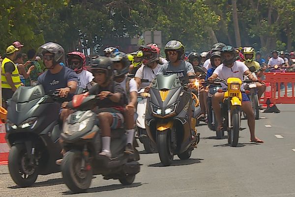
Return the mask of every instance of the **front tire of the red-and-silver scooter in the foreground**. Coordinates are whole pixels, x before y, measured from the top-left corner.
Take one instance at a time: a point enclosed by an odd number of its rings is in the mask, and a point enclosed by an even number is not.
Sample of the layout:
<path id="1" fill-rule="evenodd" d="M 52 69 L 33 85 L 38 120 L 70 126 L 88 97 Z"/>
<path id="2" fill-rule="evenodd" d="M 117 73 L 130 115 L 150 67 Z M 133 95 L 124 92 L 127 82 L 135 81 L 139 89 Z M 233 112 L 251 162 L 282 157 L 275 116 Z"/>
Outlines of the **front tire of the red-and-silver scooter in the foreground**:
<path id="1" fill-rule="evenodd" d="M 63 159 L 61 164 L 61 174 L 62 179 L 66 186 L 73 193 L 83 193 L 85 192 L 92 180 L 92 170 L 86 169 L 81 172 L 81 161 L 82 153 L 80 151 L 68 151 Z M 78 165 L 78 166 L 77 166 Z M 80 171 L 76 171 L 79 169 Z"/>

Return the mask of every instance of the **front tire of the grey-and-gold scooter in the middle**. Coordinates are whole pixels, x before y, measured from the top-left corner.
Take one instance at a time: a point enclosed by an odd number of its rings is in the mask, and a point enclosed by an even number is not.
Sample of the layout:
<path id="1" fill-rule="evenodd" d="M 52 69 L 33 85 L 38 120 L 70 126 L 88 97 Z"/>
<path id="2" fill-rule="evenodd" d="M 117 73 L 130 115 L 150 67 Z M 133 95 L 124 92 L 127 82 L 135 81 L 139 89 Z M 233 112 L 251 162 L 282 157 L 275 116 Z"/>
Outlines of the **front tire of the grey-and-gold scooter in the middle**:
<path id="1" fill-rule="evenodd" d="M 157 149 L 159 153 L 159 158 L 163 166 L 169 166 L 172 161 L 174 154 L 171 150 L 171 134 L 170 132 L 165 132 L 159 134 L 157 138 Z"/>

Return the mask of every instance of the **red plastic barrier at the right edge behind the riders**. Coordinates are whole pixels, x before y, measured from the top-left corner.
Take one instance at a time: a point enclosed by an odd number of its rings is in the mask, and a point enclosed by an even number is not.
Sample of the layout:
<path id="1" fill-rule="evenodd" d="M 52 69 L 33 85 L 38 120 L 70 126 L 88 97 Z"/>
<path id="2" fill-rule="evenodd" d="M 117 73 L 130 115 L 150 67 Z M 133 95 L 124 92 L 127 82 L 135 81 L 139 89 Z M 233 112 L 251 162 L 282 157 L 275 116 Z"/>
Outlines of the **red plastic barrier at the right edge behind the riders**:
<path id="1" fill-rule="evenodd" d="M 260 103 L 265 104 L 269 99 L 273 104 L 295 104 L 295 73 L 266 72 L 264 75 L 265 82 L 269 83 L 271 92 L 266 91 L 264 97 L 260 99 Z M 266 85 L 266 88 L 268 87 Z"/>

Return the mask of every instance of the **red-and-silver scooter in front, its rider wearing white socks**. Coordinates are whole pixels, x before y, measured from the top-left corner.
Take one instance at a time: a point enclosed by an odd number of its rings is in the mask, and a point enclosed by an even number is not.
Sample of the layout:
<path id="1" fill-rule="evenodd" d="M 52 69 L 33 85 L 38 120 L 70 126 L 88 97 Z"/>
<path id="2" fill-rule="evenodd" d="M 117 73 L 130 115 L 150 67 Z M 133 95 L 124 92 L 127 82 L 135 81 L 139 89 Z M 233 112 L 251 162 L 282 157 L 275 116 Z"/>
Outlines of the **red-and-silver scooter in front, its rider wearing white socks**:
<path id="1" fill-rule="evenodd" d="M 60 134 L 66 151 L 61 164 L 62 177 L 66 186 L 74 193 L 85 192 L 92 175 L 101 174 L 104 179 L 118 179 L 123 185 L 131 185 L 140 171 L 139 154 L 124 153 L 126 145 L 125 129 L 111 131 L 112 158 L 99 156 L 101 152 L 101 131 L 93 111 L 98 96 L 75 95 L 67 104 L 76 110 L 70 114 Z"/>

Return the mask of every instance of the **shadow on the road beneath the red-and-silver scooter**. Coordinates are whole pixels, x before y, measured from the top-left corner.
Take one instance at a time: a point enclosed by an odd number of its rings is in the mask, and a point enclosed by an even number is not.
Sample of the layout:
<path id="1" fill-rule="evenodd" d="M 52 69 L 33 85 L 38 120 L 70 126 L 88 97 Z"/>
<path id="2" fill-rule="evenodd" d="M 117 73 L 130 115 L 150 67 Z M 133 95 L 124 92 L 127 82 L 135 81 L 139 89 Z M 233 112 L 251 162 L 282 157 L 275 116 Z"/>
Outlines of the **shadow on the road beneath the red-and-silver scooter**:
<path id="1" fill-rule="evenodd" d="M 144 183 L 147 184 L 147 183 Z M 86 193 L 96 193 L 96 192 L 106 192 L 106 191 L 113 191 L 113 190 L 119 190 L 123 188 L 136 188 L 143 185 L 142 183 L 133 183 L 132 185 L 122 185 L 122 184 L 113 184 L 113 185 L 107 185 L 107 186 L 99 186 L 95 188 L 89 188 Z M 71 191 L 62 192 L 62 195 L 72 195 L 74 194 Z"/>

